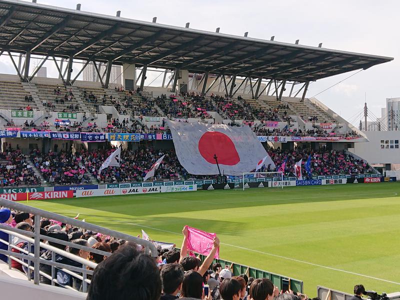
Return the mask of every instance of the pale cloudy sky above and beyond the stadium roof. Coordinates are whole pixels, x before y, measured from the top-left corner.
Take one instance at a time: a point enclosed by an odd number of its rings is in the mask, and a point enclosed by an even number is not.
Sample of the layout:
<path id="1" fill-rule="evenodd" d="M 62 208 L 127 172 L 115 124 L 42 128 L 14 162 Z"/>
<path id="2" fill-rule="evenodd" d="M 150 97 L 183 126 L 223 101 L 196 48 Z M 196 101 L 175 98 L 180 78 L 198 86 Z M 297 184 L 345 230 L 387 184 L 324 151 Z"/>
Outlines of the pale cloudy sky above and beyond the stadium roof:
<path id="1" fill-rule="evenodd" d="M 37 0 L 38 3 L 75 8 L 66 0 Z M 357 113 L 366 99 L 369 109 L 380 116 L 386 97 L 400 96 L 400 41 L 398 40 L 398 11 L 400 2 L 394 0 L 219 0 L 219 1 L 121 1 L 80 0 L 81 10 L 132 19 L 191 28 L 293 42 L 300 44 L 394 57 L 388 63 L 363 70 L 351 78 L 319 94 L 316 98 L 348 119 Z M 49 67 L 50 75 L 56 70 Z M 14 73 L 8 59 L 0 59 L 0 72 Z M 336 75 L 313 82 L 307 97 L 349 76 Z M 355 121 L 355 123 L 358 123 Z"/>

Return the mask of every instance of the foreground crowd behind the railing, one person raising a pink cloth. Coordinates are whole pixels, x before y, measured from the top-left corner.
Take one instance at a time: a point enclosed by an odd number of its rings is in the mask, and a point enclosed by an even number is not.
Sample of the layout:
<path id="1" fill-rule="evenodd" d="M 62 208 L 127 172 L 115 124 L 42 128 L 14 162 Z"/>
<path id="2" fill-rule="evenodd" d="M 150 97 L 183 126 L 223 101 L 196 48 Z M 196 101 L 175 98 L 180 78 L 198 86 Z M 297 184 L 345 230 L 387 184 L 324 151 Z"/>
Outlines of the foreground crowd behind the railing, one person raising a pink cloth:
<path id="1" fill-rule="evenodd" d="M 78 218 L 77 215 L 75 218 Z M 15 227 L 24 231 L 33 231 L 34 215 L 11 211 L 8 208 L 0 209 L 0 223 L 9 227 Z M 80 227 L 71 226 L 56 220 L 41 218 L 41 241 L 50 246 L 67 251 L 73 255 L 69 258 L 62 252 L 40 247 L 41 258 L 40 283 L 51 284 L 51 274 L 54 272 L 55 285 L 67 286 L 82 291 L 81 273 L 78 276 L 66 271 L 68 267 L 55 267 L 45 261 L 52 260 L 63 265 L 92 270 L 89 266 L 83 266 L 79 259 L 87 259 L 97 266 L 92 275 L 87 275 L 91 280 L 88 286 L 87 300 L 170 300 L 170 299 L 203 299 L 203 300 L 311 300 L 304 294 L 295 293 L 290 288 L 279 290 L 271 280 L 267 278 L 248 277 L 246 274 L 233 276 L 233 270 L 218 262 L 213 263 L 213 258 L 219 249 L 219 238 L 215 236 L 212 246 L 201 261 L 188 251 L 188 230 L 182 229 L 182 245 L 180 251 L 157 246 L 157 256 L 151 257 L 144 251 L 144 247 L 131 241 L 114 238 L 101 232 L 93 232 Z M 139 237 L 139 235 L 138 235 Z M 7 233 L 0 231 L 0 238 L 8 240 Z M 48 240 L 46 240 L 48 239 Z M 59 242 L 58 242 L 59 240 Z M 12 252 L 14 255 L 25 254 L 33 251 L 33 245 L 28 244 L 24 238 L 11 238 Z M 68 245 L 64 245 L 69 242 Z M 29 249 L 30 247 L 30 249 Z M 0 249 L 7 250 L 8 246 L 0 242 Z M 96 252 L 101 250 L 107 255 Z M 189 254 L 189 255 L 188 255 Z M 25 254 L 26 255 L 26 254 Z M 0 259 L 7 262 L 7 255 L 0 254 Z M 22 257 L 27 265 L 33 265 Z M 32 276 L 25 264 L 11 259 L 11 266 Z M 86 276 L 86 275 L 85 275 Z M 32 277 L 31 277 L 32 278 Z M 362 287 L 362 285 L 359 285 Z M 357 289 L 358 290 L 358 289 Z M 355 287 L 354 287 L 354 293 Z M 357 293 L 359 294 L 359 293 Z M 362 294 L 362 293 L 361 293 Z M 319 300 L 313 298 L 312 300 Z"/>

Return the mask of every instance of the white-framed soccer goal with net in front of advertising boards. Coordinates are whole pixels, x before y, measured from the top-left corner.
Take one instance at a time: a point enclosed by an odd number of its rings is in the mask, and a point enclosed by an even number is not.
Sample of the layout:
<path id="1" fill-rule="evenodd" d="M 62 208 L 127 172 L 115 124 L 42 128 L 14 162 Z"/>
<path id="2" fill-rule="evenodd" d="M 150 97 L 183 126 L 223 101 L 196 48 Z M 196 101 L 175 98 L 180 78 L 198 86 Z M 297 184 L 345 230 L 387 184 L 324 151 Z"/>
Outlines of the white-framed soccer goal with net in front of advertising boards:
<path id="1" fill-rule="evenodd" d="M 268 182 L 272 183 L 272 187 L 283 188 L 283 172 L 245 172 L 240 178 L 239 186 L 243 190 L 249 187 L 268 187 Z"/>

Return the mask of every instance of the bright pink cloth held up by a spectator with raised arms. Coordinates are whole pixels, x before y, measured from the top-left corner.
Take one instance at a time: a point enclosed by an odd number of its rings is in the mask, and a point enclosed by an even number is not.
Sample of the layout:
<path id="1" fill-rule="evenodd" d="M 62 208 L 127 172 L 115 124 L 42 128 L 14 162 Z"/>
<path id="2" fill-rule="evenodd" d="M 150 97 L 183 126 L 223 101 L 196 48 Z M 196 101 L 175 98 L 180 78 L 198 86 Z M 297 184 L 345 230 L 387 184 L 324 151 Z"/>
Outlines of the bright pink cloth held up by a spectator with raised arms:
<path id="1" fill-rule="evenodd" d="M 186 226 L 187 228 L 187 250 L 208 255 L 212 249 L 212 240 L 216 236 L 215 233 L 209 233 Z M 214 258 L 219 259 L 219 248 L 216 250 Z"/>

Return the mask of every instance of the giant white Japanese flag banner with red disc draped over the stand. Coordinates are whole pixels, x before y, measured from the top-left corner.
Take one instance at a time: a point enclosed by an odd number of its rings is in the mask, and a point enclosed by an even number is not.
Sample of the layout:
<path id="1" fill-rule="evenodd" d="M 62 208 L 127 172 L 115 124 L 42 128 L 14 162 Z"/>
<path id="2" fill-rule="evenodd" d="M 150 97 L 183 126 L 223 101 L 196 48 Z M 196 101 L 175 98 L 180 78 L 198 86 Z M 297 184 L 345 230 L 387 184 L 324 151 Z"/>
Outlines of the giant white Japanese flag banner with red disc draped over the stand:
<path id="1" fill-rule="evenodd" d="M 183 123 L 168 120 L 176 156 L 190 174 L 242 175 L 254 169 L 267 156 L 264 147 L 249 126 Z"/>

